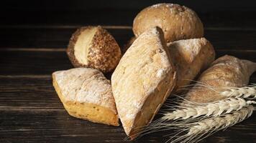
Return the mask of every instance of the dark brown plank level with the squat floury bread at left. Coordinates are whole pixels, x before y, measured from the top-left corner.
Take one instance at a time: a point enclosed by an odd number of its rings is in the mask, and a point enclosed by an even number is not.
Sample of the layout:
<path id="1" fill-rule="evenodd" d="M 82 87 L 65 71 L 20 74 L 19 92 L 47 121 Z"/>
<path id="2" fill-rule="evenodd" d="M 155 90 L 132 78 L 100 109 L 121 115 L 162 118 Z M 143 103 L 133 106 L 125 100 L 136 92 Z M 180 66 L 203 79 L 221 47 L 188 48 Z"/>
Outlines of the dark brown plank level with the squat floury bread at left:
<path id="1" fill-rule="evenodd" d="M 250 83 L 256 83 L 256 73 Z M 8 102 L 6 102 L 8 101 Z M 0 76 L 0 112 L 10 111 L 63 111 L 52 77 Z"/>

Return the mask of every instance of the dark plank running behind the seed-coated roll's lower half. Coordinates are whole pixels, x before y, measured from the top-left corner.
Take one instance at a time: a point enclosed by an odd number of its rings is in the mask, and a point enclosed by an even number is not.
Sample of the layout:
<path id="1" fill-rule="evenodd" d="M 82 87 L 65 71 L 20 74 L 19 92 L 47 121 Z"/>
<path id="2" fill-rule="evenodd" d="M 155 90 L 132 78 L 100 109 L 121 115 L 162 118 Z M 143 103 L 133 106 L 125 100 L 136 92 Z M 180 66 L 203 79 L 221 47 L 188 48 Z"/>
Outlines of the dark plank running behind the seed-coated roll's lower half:
<path id="1" fill-rule="evenodd" d="M 217 57 L 225 54 L 256 61 L 256 51 L 216 50 Z M 1 51 L 0 66 L 0 75 L 50 75 L 73 68 L 65 51 Z"/>

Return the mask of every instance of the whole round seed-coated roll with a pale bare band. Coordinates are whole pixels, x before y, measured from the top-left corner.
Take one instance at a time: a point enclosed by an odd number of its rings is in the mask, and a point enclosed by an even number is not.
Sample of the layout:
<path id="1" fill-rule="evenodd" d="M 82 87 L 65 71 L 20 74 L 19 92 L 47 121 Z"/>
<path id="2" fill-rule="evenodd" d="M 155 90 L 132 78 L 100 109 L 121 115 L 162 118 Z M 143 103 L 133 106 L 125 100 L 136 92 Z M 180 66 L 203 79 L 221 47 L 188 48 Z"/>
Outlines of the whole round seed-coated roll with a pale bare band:
<path id="1" fill-rule="evenodd" d="M 103 72 L 114 70 L 121 50 L 111 34 L 101 26 L 85 26 L 71 37 L 68 57 L 75 67 L 91 67 Z"/>

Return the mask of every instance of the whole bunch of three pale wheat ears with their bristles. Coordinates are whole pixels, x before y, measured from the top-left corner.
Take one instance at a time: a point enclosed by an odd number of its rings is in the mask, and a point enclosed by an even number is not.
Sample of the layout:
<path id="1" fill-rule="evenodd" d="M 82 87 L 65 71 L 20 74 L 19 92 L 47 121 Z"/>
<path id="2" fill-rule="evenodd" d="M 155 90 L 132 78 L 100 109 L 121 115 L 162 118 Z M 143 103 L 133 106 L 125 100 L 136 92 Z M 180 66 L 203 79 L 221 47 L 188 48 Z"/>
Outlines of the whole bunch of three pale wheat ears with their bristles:
<path id="1" fill-rule="evenodd" d="M 140 134 L 138 137 L 152 132 L 178 129 L 178 132 L 170 138 L 176 138 L 173 142 L 197 142 L 199 139 L 204 139 L 214 132 L 231 127 L 251 116 L 253 107 L 250 104 L 256 104 L 251 100 L 256 99 L 256 84 L 242 88 L 208 86 L 204 88 L 216 92 L 224 91 L 219 93 L 226 98 L 217 102 L 197 103 L 176 96 L 175 100 L 165 102 L 168 109 L 165 110 L 163 117 L 145 127 L 145 130 L 140 132 L 141 134 L 138 133 Z M 187 134 L 178 137 L 179 134 L 185 132 Z"/>

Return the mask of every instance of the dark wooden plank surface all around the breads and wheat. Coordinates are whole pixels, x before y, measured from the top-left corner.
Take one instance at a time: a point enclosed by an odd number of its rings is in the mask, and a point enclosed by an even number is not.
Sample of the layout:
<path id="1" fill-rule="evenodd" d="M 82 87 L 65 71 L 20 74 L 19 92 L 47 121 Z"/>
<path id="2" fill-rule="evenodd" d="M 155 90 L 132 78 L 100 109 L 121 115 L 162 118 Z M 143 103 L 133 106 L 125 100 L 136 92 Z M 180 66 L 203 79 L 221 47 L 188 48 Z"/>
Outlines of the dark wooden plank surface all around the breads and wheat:
<path id="1" fill-rule="evenodd" d="M 93 16 L 88 11 L 66 11 L 49 13 L 47 17 L 37 13 L 35 21 L 23 18 L 21 22 L 22 14 L 12 11 L 11 15 L 18 14 L 17 19 L 9 18 L 0 26 L 0 142 L 124 142 L 122 126 L 110 127 L 70 117 L 52 87 L 51 74 L 73 67 L 65 48 L 78 26 L 107 25 L 104 28 L 123 46 L 132 37 L 132 19 L 137 11 L 97 11 Z M 30 13 L 23 14 L 29 17 Z M 256 61 L 254 16 L 200 15 L 205 36 L 216 48 L 217 57 L 231 54 Z M 250 82 L 256 83 L 256 74 Z M 163 135 L 150 134 L 134 142 L 164 142 L 168 138 Z M 203 142 L 256 142 L 256 114 Z"/>

